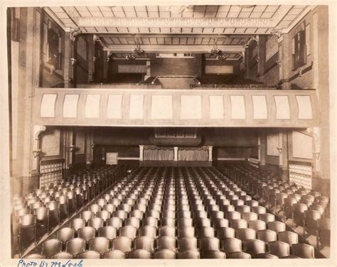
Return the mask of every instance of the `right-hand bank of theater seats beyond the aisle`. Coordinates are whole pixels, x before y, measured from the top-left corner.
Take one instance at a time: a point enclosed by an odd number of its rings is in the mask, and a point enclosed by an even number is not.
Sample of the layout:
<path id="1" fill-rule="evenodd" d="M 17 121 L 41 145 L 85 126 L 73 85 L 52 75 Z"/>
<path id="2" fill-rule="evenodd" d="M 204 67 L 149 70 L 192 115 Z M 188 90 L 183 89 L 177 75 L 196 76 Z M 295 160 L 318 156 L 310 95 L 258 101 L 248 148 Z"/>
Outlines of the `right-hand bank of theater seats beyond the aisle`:
<path id="1" fill-rule="evenodd" d="M 298 187 L 294 182 L 276 180 L 273 175 L 248 164 L 226 163 L 224 173 L 245 188 L 262 205 L 291 219 L 293 229 L 303 227 L 303 237 L 316 236 L 316 247 L 330 246 L 329 198 L 320 192 Z"/>

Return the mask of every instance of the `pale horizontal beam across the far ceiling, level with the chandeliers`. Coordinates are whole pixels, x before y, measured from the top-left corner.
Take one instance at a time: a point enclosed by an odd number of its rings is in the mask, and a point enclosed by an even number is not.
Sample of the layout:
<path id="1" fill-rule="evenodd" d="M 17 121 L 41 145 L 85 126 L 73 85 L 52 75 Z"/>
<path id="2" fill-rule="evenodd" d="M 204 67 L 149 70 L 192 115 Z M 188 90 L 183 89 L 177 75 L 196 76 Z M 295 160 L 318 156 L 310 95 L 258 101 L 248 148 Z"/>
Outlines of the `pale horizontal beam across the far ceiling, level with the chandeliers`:
<path id="1" fill-rule="evenodd" d="M 145 53 L 208 53 L 212 45 L 141 45 Z M 242 45 L 217 45 L 223 53 L 244 52 Z M 104 48 L 113 53 L 132 53 L 136 45 L 107 45 Z"/>

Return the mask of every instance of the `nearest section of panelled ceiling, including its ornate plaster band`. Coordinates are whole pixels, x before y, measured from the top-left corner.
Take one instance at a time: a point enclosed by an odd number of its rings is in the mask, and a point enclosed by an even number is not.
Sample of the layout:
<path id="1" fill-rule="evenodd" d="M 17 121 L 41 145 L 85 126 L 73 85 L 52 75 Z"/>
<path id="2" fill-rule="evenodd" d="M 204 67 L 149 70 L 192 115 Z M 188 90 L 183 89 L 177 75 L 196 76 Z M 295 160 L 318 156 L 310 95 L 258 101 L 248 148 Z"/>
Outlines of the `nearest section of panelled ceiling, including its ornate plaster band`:
<path id="1" fill-rule="evenodd" d="M 185 34 L 268 34 L 273 28 L 284 29 L 306 9 L 307 6 L 52 6 L 47 9 L 52 12 L 65 28 L 77 28 L 83 33 L 185 33 Z M 176 21 L 191 21 L 189 27 L 169 27 L 170 23 L 163 26 L 160 21 L 173 18 Z M 194 20 L 210 21 L 205 27 L 201 23 L 193 23 Z M 214 19 L 230 19 L 233 23 L 230 27 L 212 27 Z M 118 21 L 116 21 L 118 19 Z M 139 23 L 131 23 L 132 26 L 114 27 L 116 22 L 127 24 L 125 21 L 138 19 L 139 22 L 150 20 L 149 27 L 137 27 Z M 269 21 L 265 26 L 257 21 Z M 90 27 L 88 24 L 96 24 Z M 110 21 L 110 23 L 107 23 Z M 172 20 L 171 20 L 172 21 Z M 235 21 L 247 22 L 235 27 Z M 86 25 L 80 25 L 85 23 Z M 97 23 L 95 23 L 97 22 Z M 100 23 L 101 22 L 101 23 Z M 115 22 L 115 23 L 114 23 Z M 250 24 L 249 24 L 250 23 Z M 107 25 L 109 24 L 109 25 Z M 141 23 L 140 23 L 141 24 Z M 143 23 L 144 24 L 144 23 Z M 159 24 L 159 26 L 156 26 Z M 175 23 L 179 25 L 179 23 Z M 186 23 L 181 23 L 186 24 Z M 199 23 L 200 24 L 200 23 Z M 240 23 L 237 23 L 238 25 Z M 260 26 L 255 26 L 260 25 Z"/>

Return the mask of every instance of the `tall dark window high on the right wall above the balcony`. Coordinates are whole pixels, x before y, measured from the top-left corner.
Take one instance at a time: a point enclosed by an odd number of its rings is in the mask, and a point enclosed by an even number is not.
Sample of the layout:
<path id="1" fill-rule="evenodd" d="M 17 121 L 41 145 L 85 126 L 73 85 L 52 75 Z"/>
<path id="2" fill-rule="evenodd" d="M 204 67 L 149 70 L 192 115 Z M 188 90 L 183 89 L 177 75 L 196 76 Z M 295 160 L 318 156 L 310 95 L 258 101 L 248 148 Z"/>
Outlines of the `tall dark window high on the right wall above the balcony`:
<path id="1" fill-rule="evenodd" d="M 306 64 L 306 33 L 304 30 L 299 31 L 292 38 L 291 52 L 293 70 Z"/>

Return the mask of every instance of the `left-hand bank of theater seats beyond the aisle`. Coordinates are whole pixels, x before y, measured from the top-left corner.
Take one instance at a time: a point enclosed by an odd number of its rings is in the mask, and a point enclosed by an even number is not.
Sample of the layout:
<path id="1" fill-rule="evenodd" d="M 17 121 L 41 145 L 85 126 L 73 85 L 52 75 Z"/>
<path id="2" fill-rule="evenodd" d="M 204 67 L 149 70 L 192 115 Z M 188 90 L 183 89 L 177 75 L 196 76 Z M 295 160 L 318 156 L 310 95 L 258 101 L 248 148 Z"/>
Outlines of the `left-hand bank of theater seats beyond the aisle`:
<path id="1" fill-rule="evenodd" d="M 11 213 L 13 251 L 21 255 L 31 243 L 37 243 L 42 236 L 106 190 L 123 172 L 124 166 L 99 167 L 26 195 L 14 195 Z"/>

